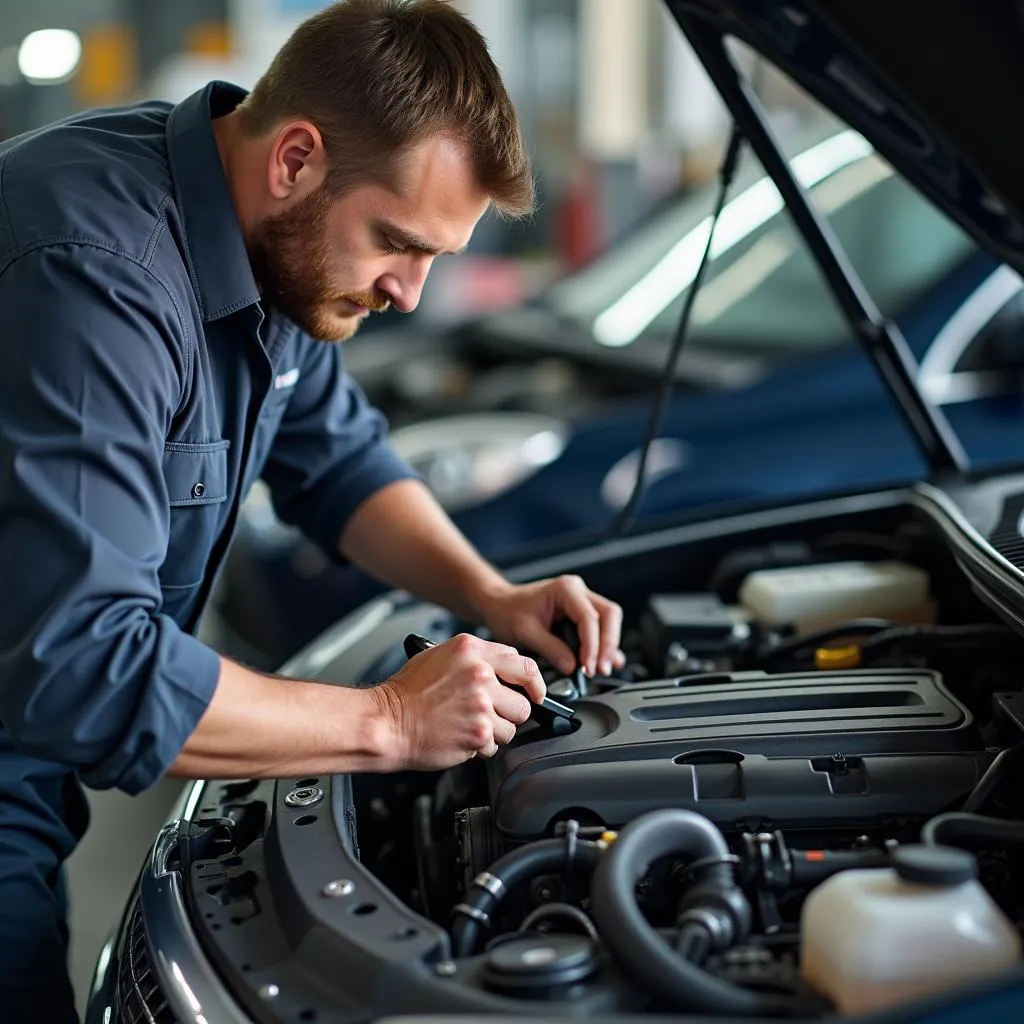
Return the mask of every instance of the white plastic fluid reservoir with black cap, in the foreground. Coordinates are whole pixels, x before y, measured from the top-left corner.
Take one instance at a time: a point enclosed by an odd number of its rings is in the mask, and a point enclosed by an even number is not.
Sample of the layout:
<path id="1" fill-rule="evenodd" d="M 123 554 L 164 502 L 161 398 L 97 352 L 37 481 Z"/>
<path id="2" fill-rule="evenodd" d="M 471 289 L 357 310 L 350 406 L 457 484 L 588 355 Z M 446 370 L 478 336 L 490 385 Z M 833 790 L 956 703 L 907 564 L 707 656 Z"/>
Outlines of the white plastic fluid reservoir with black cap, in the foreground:
<path id="1" fill-rule="evenodd" d="M 976 880 L 972 854 L 905 846 L 893 864 L 836 874 L 804 903 L 801 972 L 841 1013 L 934 995 L 1020 961 L 1020 936 Z"/>

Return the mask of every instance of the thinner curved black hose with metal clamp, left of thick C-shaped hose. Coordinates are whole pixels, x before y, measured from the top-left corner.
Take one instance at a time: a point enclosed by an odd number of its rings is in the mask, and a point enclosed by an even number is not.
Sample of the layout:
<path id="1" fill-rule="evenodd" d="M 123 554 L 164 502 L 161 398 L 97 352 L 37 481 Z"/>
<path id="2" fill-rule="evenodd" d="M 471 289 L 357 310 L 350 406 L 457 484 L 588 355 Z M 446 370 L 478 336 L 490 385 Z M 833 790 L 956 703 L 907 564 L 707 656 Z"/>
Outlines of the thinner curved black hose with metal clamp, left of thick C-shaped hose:
<path id="1" fill-rule="evenodd" d="M 564 839 L 541 840 L 512 850 L 496 860 L 482 874 L 478 874 L 466 898 L 456 907 L 456 921 L 452 926 L 454 954 L 472 955 L 476 949 L 480 926 L 489 920 L 506 892 L 539 874 L 564 873 L 569 860 L 567 850 Z M 578 840 L 571 866 L 591 870 L 597 863 L 597 855 L 596 843 Z"/>

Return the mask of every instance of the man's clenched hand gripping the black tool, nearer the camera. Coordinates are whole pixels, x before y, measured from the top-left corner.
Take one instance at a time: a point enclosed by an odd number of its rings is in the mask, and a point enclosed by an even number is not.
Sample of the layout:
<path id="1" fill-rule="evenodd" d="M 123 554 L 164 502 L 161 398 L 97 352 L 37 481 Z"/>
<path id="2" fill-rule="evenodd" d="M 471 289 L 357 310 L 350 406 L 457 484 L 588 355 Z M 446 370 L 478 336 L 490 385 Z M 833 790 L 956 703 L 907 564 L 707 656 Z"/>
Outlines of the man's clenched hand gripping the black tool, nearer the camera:
<path id="1" fill-rule="evenodd" d="M 389 767 L 430 771 L 493 757 L 529 718 L 529 700 L 499 678 L 544 699 L 536 662 L 468 634 L 417 654 L 369 691 L 394 737 Z"/>

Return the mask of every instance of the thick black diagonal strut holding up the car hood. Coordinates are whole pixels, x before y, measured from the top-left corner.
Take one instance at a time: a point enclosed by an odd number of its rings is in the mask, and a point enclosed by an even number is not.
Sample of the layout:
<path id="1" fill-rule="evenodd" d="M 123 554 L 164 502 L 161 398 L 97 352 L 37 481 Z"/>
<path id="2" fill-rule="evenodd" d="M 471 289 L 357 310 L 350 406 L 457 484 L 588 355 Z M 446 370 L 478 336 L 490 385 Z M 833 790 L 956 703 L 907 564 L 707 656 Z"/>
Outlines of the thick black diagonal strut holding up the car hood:
<path id="1" fill-rule="evenodd" d="M 811 206 L 782 156 L 764 108 L 726 52 L 721 33 L 695 15 L 678 8 L 674 13 L 740 132 L 775 182 L 843 314 L 895 398 L 931 473 L 966 472 L 970 462 L 949 421 L 916 385 L 919 368 L 906 339 L 891 319 L 882 315 L 831 227 Z"/>

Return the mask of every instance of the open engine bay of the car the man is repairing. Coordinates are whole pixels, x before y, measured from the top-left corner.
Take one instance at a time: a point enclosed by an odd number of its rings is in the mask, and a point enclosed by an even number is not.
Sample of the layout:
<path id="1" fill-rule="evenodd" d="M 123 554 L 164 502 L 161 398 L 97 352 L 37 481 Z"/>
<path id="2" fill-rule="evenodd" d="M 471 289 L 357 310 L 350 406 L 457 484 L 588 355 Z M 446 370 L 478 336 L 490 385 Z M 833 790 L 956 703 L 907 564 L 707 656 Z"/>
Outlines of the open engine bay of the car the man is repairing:
<path id="1" fill-rule="evenodd" d="M 898 953 L 874 964 L 886 975 L 874 986 L 850 967 L 873 955 L 857 941 L 878 945 L 912 918 L 900 886 L 988 901 L 982 916 L 999 941 L 988 936 L 986 949 L 1002 961 L 986 976 L 1019 965 L 1024 640 L 979 599 L 932 524 L 857 521 L 803 524 L 799 540 L 771 530 L 706 543 L 685 577 L 692 589 L 664 586 L 664 552 L 662 566 L 657 552 L 633 561 L 633 589 L 611 591 L 626 613 L 625 668 L 565 677 L 542 663 L 549 696 L 571 718 L 535 716 L 489 760 L 282 781 L 271 797 L 253 783 L 241 802 L 204 797 L 221 821 L 241 820 L 258 798 L 266 827 L 231 851 L 238 866 L 194 868 L 196 892 L 216 890 L 202 924 L 238 913 L 225 895 L 236 872 L 263 880 L 272 899 L 242 915 L 246 934 L 259 923 L 272 963 L 272 903 L 292 935 L 274 955 L 291 947 L 296 970 L 328 987 L 344 968 L 347 997 L 366 989 L 368 1015 L 345 1020 L 422 1007 L 609 1020 L 880 1009 L 937 984 L 921 963 L 902 977 Z M 391 636 L 460 631 L 430 614 L 396 614 Z M 406 657 L 400 642 L 381 643 L 368 683 Z M 329 801 L 332 814 L 317 816 Z M 338 899 L 325 900 L 315 866 L 325 844 L 347 858 L 330 883 Z M 895 889 L 871 896 L 871 880 Z M 839 882 L 867 895 L 815 911 Z M 250 902 L 256 891 L 253 881 Z M 868 912 L 897 924 L 855 927 Z M 944 905 L 941 920 L 958 912 Z M 845 936 L 828 932 L 844 922 Z M 255 959 L 249 948 L 234 962 L 243 955 Z"/>

